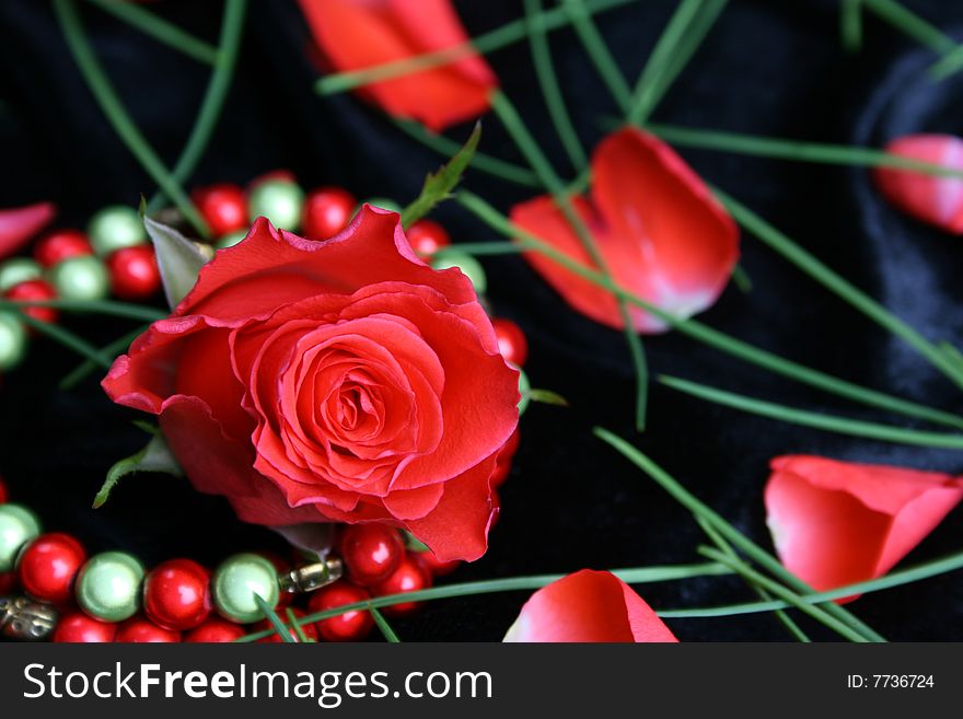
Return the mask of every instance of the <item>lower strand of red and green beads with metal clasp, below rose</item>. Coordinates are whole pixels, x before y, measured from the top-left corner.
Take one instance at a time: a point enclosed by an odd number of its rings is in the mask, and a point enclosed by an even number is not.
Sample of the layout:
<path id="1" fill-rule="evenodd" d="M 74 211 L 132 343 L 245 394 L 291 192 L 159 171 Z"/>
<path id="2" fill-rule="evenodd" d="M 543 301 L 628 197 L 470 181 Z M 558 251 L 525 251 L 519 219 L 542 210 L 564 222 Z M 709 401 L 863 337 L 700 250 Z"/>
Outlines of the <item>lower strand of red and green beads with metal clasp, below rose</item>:
<path id="1" fill-rule="evenodd" d="M 279 557 L 235 554 L 213 572 L 190 559 L 164 561 L 149 572 L 125 552 L 88 557 L 74 537 L 43 534 L 30 509 L 7 502 L 0 482 L 0 636 L 55 642 L 222 642 L 248 630 L 268 629 L 255 594 L 293 616 L 290 606 L 308 595 L 311 613 L 372 596 L 419 591 L 457 561 L 406 548 L 402 533 L 382 524 L 346 525 L 323 561 L 294 568 Z M 22 594 L 13 594 L 16 589 Z M 390 616 L 416 603 L 385 607 Z M 255 624 L 257 623 L 257 624 Z M 246 626 L 254 625 L 254 626 Z M 346 612 L 305 625 L 309 640 L 357 641 L 368 636 L 368 612 Z M 292 637 L 295 637 L 292 630 Z M 280 641 L 278 635 L 262 641 Z"/>

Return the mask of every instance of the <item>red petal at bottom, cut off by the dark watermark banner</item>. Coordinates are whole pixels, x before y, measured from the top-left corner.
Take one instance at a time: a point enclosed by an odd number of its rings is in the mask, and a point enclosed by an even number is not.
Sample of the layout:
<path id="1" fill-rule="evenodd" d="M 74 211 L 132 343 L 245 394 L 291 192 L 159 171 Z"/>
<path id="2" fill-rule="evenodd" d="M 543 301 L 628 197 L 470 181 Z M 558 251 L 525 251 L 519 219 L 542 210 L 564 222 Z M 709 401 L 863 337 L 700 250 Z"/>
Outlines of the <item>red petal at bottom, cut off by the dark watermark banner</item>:
<path id="1" fill-rule="evenodd" d="M 504 640 L 678 641 L 628 584 L 611 572 L 591 569 L 577 571 L 535 592 Z"/>

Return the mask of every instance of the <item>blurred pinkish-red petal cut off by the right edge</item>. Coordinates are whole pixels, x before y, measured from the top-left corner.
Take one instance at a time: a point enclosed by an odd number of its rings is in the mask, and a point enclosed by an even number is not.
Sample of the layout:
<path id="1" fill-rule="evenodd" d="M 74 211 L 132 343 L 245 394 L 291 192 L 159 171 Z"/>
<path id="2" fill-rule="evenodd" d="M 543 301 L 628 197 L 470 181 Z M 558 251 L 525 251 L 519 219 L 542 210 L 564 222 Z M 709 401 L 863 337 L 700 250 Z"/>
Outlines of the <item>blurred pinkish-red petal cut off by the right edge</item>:
<path id="1" fill-rule="evenodd" d="M 886 152 L 963 170 L 963 140 L 952 135 L 907 135 L 890 142 Z M 873 178 L 883 196 L 907 214 L 963 234 L 963 179 L 893 167 L 878 167 Z"/>

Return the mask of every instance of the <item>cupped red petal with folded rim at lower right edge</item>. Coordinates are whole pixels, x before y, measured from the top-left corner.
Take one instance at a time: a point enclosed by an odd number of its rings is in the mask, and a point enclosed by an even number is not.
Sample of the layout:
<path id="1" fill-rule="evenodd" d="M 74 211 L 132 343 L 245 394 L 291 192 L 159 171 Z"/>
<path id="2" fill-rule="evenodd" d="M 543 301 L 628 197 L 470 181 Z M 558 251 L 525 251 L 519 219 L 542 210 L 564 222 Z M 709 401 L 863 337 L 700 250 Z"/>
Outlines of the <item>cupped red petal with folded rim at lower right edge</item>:
<path id="1" fill-rule="evenodd" d="M 963 482 L 935 472 L 802 455 L 771 467 L 765 502 L 777 553 L 820 591 L 883 576 L 963 499 Z"/>

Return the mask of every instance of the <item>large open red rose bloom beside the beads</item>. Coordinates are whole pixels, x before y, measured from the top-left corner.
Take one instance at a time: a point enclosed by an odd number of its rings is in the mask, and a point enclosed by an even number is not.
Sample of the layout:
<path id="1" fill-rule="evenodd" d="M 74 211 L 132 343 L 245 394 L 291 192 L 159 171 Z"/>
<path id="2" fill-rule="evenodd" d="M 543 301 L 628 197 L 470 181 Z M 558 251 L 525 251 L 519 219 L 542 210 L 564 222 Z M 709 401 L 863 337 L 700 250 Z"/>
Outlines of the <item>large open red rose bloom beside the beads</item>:
<path id="1" fill-rule="evenodd" d="M 160 416 L 200 491 L 248 522 L 385 522 L 484 554 L 518 373 L 469 280 L 366 206 L 324 242 L 259 218 L 103 382 Z"/>

